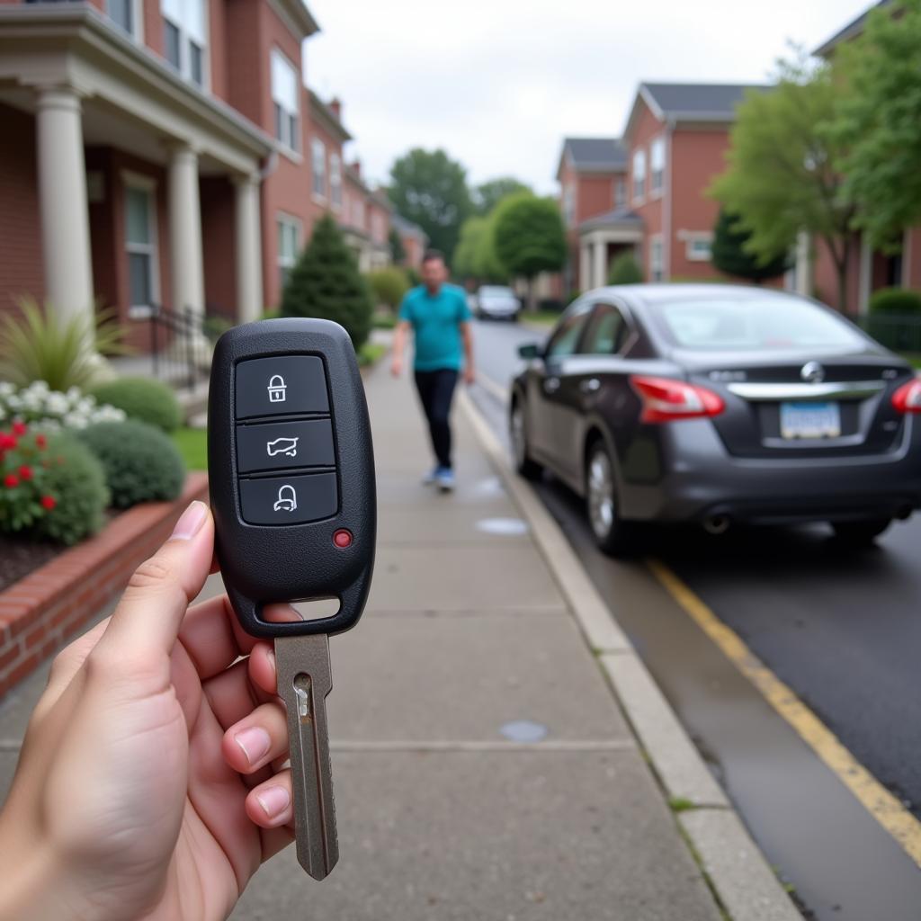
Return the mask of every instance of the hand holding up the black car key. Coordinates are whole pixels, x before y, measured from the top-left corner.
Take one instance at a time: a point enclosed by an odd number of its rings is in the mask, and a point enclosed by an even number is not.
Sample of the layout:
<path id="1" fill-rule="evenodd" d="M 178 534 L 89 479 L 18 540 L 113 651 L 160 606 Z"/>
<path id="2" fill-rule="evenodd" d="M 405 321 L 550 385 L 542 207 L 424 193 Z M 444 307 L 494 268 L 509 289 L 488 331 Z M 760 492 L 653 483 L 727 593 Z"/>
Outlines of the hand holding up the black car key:
<path id="1" fill-rule="evenodd" d="M 54 659 L 0 812 L 3 921 L 223 919 L 293 839 L 272 647 L 226 597 L 188 608 L 213 554 L 193 502 L 111 618 Z"/>

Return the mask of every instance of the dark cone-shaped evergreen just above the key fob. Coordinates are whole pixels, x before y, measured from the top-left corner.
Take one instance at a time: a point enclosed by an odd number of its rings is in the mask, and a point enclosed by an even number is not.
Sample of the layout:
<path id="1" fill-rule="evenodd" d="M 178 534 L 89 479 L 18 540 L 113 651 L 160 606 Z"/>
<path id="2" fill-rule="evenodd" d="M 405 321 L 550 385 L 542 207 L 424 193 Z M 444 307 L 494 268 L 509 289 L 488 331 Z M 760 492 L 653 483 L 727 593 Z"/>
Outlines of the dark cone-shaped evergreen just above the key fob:
<path id="1" fill-rule="evenodd" d="M 342 231 L 329 215 L 313 227 L 282 292 L 283 317 L 320 317 L 341 323 L 356 351 L 371 332 L 373 303 Z"/>

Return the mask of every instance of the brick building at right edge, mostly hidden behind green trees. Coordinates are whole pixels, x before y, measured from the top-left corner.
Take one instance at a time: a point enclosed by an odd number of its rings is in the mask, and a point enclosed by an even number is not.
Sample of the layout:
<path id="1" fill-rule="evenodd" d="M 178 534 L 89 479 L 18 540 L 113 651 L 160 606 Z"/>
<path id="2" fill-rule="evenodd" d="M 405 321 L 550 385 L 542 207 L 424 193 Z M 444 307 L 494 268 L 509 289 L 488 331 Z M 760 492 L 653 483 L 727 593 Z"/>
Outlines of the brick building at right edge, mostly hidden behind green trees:
<path id="1" fill-rule="evenodd" d="M 890 2 L 882 0 L 876 6 L 890 6 Z M 863 32 L 867 16 L 868 13 L 864 13 L 847 23 L 813 53 L 830 60 L 839 44 L 852 41 Z M 800 271 L 806 279 L 806 290 L 826 303 L 837 304 L 837 275 L 827 248 L 817 239 L 801 250 Z M 846 282 L 849 312 L 865 314 L 870 295 L 881 287 L 921 289 L 921 227 L 905 228 L 902 250 L 894 255 L 874 251 L 863 234 L 854 234 L 850 253 Z"/>

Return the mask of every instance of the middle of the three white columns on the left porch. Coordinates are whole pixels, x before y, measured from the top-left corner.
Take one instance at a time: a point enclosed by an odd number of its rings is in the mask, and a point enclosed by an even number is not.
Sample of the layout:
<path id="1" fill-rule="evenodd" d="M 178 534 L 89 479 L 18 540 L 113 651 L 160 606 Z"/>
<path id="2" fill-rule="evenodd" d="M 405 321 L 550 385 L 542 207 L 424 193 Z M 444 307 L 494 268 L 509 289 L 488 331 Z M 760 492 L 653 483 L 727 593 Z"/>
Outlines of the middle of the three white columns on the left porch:
<path id="1" fill-rule="evenodd" d="M 198 197 L 198 155 L 176 146 L 169 156 L 169 256 L 172 308 L 204 316 L 202 211 Z"/>

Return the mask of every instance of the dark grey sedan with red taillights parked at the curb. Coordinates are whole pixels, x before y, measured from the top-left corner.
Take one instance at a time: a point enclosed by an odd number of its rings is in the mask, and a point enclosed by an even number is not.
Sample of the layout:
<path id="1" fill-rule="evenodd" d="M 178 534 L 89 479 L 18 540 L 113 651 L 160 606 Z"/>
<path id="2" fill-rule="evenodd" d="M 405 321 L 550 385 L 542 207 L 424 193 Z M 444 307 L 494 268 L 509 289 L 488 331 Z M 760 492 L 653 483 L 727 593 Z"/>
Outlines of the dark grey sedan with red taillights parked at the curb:
<path id="1" fill-rule="evenodd" d="M 519 473 L 585 499 L 596 542 L 636 522 L 827 521 L 871 542 L 921 506 L 921 379 L 831 308 L 729 285 L 600 288 L 524 345 Z"/>

